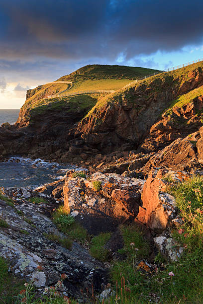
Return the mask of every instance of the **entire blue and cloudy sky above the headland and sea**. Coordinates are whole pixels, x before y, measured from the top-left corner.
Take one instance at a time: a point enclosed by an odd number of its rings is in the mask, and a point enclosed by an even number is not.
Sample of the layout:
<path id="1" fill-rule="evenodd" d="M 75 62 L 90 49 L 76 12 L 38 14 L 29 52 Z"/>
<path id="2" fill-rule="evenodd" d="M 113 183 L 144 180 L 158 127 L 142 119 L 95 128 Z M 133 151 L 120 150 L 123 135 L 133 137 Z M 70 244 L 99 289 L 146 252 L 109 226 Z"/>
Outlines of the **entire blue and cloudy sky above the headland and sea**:
<path id="1" fill-rule="evenodd" d="M 0 109 L 88 64 L 164 70 L 202 58 L 202 0 L 0 0 Z"/>

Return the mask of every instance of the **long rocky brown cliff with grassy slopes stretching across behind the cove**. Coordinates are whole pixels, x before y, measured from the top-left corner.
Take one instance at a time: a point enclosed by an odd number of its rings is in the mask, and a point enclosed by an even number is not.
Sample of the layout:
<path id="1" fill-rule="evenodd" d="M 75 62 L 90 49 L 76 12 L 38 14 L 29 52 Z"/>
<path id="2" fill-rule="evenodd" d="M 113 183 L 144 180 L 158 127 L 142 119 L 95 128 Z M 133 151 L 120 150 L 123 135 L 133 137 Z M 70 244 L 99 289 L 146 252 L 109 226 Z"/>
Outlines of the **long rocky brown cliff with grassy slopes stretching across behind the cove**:
<path id="1" fill-rule="evenodd" d="M 15 126 L 0 128 L 0 154 L 80 162 L 98 153 L 159 151 L 201 127 L 202 68 L 162 73 L 99 99 L 78 95 L 36 105 L 30 101 L 36 91 L 28 92 Z"/>

